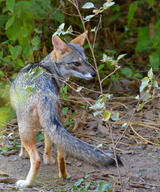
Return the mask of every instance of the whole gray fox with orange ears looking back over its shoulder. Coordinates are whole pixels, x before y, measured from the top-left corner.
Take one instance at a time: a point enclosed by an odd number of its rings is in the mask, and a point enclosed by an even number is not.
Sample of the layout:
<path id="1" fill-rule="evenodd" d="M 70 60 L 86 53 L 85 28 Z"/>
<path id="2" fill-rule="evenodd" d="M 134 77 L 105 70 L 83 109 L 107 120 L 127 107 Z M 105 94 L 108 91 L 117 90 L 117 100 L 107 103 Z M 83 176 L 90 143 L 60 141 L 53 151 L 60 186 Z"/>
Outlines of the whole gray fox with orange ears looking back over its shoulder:
<path id="1" fill-rule="evenodd" d="M 10 87 L 10 101 L 16 111 L 19 135 L 21 139 L 20 156 L 30 158 L 30 169 L 24 180 L 18 180 L 18 188 L 32 187 L 41 159 L 36 148 L 37 130 L 44 130 L 45 164 L 55 162 L 52 156 L 53 144 L 57 148 L 59 177 L 68 176 L 65 155 L 70 155 L 89 164 L 107 168 L 122 165 L 120 157 L 114 158 L 113 152 L 103 152 L 72 136 L 62 125 L 61 102 L 59 92 L 64 82 L 70 77 L 91 80 L 96 76 L 85 55 L 83 44 L 87 32 L 78 35 L 69 43 L 58 35 L 52 35 L 53 50 L 36 63 L 29 63 L 20 70 Z M 35 68 L 42 69 L 36 77 Z M 33 86 L 34 85 L 34 86 Z M 32 91 L 27 87 L 33 86 Z"/>

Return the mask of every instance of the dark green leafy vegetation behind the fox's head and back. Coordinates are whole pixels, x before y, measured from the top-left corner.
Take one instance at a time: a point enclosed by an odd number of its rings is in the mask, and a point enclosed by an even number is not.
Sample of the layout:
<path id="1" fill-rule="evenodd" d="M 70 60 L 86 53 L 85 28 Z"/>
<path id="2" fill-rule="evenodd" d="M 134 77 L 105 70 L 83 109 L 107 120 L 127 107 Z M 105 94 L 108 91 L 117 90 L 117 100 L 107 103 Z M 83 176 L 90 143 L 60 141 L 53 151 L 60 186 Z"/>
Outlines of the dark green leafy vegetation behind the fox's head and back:
<path id="1" fill-rule="evenodd" d="M 158 75 L 160 2 L 119 0 L 109 9 L 96 12 L 93 18 L 93 9 L 98 10 L 106 1 L 92 0 L 96 8 L 82 8 L 86 2 L 80 1 L 79 9 L 83 17 L 89 16 L 85 26 L 91 43 L 98 31 L 94 53 L 100 77 L 114 71 L 114 59 L 126 54 L 120 61 L 121 68 L 102 82 L 103 89 L 115 79 L 141 79 L 151 67 Z M 38 61 L 52 50 L 51 36 L 58 28 L 71 33 L 62 36 L 66 41 L 84 31 L 70 1 L 0 0 L 0 128 L 15 116 L 9 105 L 10 82 L 26 63 Z M 88 44 L 85 47 L 92 58 Z M 111 62 L 106 59 L 108 56 Z"/>

